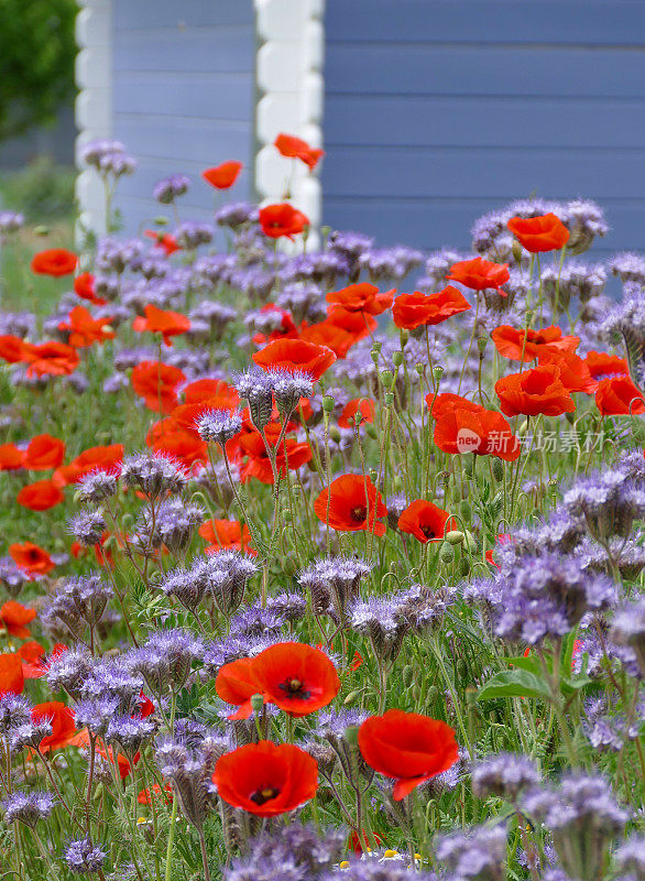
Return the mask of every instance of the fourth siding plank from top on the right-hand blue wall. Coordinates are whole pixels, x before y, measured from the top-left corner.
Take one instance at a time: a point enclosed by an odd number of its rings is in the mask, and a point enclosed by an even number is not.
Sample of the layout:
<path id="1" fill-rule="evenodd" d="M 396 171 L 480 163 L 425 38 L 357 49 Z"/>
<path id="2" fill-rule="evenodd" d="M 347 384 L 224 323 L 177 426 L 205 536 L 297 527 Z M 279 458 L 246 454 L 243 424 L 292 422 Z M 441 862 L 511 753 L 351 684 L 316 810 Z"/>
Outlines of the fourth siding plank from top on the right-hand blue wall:
<path id="1" fill-rule="evenodd" d="M 645 151 L 446 150 L 347 148 L 328 150 L 326 196 L 466 196 L 630 198 L 642 193 Z"/>

